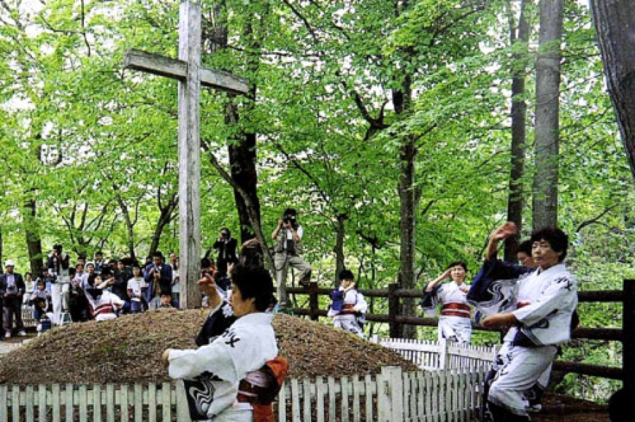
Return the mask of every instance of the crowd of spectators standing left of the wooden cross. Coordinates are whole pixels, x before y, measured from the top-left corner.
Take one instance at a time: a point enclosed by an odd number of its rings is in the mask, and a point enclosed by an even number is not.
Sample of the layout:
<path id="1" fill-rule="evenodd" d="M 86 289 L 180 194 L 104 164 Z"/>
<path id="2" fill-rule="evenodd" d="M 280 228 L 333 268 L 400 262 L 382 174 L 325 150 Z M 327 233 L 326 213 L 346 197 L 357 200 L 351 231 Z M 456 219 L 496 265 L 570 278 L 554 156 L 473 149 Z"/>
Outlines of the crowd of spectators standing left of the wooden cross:
<path id="1" fill-rule="evenodd" d="M 114 298 L 116 315 L 179 306 L 179 257 L 175 253 L 169 254 L 167 263 L 158 251 L 143 264 L 132 258 L 108 259 L 102 252 L 95 253 L 92 260 L 79 255 L 71 263 L 61 245 L 55 245 L 47 258 L 46 268 L 37 277 L 13 272 L 13 260 L 6 261 L 0 280 L 4 337 L 10 337 L 13 330 L 24 335 L 21 315 L 25 307 L 32 309 L 36 321 L 47 318 L 57 325 L 95 319 L 93 295 L 101 297 L 102 292 L 108 292 L 104 297 Z M 215 272 L 213 261 L 208 270 Z M 115 302 L 120 305 L 114 306 Z"/>

